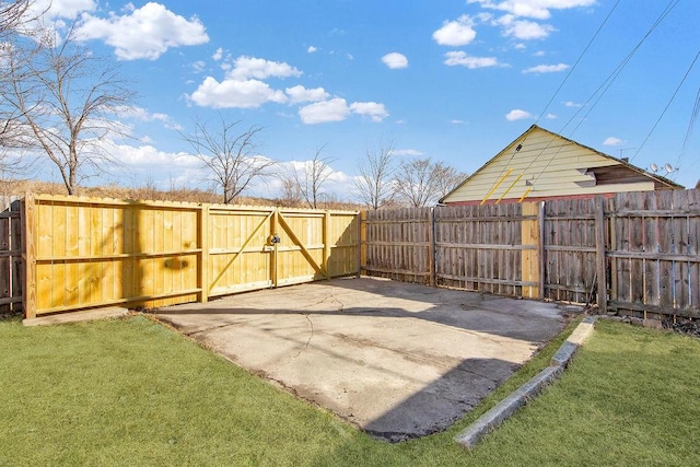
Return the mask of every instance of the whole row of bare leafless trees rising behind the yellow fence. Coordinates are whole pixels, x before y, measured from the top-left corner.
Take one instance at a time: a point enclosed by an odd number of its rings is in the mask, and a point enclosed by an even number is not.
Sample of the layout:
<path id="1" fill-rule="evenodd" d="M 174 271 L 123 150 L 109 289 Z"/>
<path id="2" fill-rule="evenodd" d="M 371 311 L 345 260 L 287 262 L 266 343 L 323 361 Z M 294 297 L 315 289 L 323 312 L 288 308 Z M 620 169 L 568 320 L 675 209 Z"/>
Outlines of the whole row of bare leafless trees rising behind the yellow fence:
<path id="1" fill-rule="evenodd" d="M 75 23 L 59 34 L 34 11 L 33 0 L 0 1 L 0 151 L 2 172 L 27 171 L 49 161 L 68 195 L 81 183 L 119 161 L 104 141 L 131 138 L 118 115 L 137 98 L 131 83 L 79 40 Z M 284 173 L 280 164 L 259 154 L 262 127 L 243 121 L 195 120 L 192 131 L 179 131 L 224 203 L 235 203 L 256 183 L 276 177 L 281 199 L 318 208 L 336 161 L 327 147 Z M 22 164 L 5 163 L 8 154 L 35 154 Z M 366 150 L 354 177 L 354 201 L 370 209 L 423 207 L 435 203 L 465 174 L 430 157 L 399 155 L 393 142 Z"/>

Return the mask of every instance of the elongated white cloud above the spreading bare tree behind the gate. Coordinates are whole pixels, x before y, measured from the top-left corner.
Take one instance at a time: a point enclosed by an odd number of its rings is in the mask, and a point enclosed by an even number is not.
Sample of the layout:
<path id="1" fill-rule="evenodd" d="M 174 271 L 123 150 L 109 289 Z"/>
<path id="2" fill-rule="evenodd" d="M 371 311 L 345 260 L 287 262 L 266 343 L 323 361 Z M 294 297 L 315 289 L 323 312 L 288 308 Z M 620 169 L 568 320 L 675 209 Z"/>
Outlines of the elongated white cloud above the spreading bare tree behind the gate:
<path id="1" fill-rule="evenodd" d="M 189 98 L 201 107 L 255 108 L 267 102 L 284 104 L 287 95 L 258 80 L 217 81 L 207 77 Z"/>

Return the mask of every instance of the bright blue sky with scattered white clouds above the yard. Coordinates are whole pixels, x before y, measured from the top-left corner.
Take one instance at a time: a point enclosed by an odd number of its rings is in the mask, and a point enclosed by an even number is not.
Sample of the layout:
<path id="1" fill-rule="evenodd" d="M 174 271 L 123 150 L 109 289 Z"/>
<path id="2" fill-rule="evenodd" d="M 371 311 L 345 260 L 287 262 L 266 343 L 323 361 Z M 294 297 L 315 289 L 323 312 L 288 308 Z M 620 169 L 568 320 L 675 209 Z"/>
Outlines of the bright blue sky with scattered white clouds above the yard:
<path id="1" fill-rule="evenodd" d="M 113 142 L 122 166 L 93 184 L 208 187 L 178 130 L 219 113 L 264 127 L 259 153 L 280 171 L 323 147 L 326 189 L 346 200 L 365 152 L 388 141 L 472 173 L 533 124 L 643 168 L 668 163 L 687 187 L 700 178 L 700 129 L 686 138 L 696 0 L 55 0 L 49 14 L 78 17 L 140 94 L 119 116 L 137 139 Z"/>

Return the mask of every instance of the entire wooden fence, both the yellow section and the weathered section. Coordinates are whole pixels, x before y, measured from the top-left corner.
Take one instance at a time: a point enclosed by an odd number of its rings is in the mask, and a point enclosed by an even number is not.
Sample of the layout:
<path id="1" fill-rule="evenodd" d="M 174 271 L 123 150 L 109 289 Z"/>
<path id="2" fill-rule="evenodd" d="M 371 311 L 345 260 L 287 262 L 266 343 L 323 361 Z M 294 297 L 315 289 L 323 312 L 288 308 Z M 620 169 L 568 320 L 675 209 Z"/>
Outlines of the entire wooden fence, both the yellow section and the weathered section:
<path id="1" fill-rule="evenodd" d="M 700 190 L 361 214 L 32 194 L 7 207 L 0 310 L 27 317 L 363 271 L 700 318 Z"/>

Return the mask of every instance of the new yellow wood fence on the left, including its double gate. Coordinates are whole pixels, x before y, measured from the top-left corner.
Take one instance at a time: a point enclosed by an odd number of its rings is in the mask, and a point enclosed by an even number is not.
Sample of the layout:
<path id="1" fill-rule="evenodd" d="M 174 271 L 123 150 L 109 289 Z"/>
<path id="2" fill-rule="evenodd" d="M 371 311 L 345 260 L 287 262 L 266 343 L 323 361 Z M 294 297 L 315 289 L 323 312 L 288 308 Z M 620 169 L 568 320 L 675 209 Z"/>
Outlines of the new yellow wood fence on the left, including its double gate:
<path id="1" fill-rule="evenodd" d="M 27 195 L 24 313 L 153 307 L 359 273 L 359 215 Z"/>

